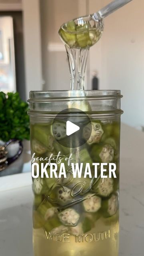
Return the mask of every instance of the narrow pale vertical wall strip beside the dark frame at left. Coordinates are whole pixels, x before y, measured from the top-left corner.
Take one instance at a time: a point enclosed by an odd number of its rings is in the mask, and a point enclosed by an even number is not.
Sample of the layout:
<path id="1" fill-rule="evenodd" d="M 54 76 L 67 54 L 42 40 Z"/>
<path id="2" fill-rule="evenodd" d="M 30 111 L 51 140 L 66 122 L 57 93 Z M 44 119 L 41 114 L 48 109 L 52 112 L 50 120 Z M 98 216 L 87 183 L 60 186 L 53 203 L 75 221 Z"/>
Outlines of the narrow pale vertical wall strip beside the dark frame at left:
<path id="1" fill-rule="evenodd" d="M 26 98 L 30 90 L 42 90 L 42 56 L 39 0 L 22 0 Z"/>

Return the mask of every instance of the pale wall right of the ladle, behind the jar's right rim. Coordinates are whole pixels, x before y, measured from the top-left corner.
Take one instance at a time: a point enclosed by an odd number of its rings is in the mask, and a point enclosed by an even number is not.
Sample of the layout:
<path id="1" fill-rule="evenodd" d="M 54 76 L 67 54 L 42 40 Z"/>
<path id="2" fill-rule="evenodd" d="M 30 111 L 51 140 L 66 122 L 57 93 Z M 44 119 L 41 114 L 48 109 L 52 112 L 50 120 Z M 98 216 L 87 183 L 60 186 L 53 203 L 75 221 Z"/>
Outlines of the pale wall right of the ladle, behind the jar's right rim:
<path id="1" fill-rule="evenodd" d="M 90 12 L 110 0 L 89 0 Z M 97 8 L 96 8 L 97 7 Z M 118 89 L 122 99 L 122 121 L 144 126 L 144 1 L 132 1 L 105 18 L 101 40 L 90 49 L 90 73 L 97 69 L 100 89 Z"/>

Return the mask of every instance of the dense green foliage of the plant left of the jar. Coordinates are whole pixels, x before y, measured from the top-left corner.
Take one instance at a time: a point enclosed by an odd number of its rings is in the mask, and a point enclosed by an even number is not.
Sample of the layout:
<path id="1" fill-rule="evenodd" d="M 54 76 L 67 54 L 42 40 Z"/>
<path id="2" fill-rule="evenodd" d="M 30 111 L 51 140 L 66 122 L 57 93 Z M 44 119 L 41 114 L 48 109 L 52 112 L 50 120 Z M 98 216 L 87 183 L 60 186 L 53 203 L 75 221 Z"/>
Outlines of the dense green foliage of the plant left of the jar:
<path id="1" fill-rule="evenodd" d="M 0 92 L 0 139 L 8 141 L 30 139 L 29 105 L 22 101 L 18 92 Z"/>

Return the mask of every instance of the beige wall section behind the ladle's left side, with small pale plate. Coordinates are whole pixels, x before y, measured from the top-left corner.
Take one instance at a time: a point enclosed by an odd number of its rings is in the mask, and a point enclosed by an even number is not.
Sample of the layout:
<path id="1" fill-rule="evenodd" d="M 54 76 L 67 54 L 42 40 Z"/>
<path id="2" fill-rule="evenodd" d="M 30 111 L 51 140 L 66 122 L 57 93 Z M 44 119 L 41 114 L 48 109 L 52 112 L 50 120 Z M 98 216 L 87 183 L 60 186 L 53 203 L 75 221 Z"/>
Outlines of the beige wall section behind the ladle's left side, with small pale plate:
<path id="1" fill-rule="evenodd" d="M 68 60 L 58 30 L 64 22 L 85 14 L 86 0 L 43 0 L 40 7 L 44 90 L 69 90 Z"/>

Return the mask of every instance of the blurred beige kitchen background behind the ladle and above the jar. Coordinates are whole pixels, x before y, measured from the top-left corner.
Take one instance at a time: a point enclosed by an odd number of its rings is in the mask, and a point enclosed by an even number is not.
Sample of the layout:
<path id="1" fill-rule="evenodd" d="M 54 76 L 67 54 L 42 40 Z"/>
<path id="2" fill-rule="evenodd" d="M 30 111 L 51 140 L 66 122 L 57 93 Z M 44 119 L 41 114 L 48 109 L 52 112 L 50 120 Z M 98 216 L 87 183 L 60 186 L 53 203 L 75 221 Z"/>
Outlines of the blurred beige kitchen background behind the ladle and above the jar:
<path id="1" fill-rule="evenodd" d="M 0 90 L 68 90 L 70 76 L 60 25 L 96 12 L 109 0 L 0 0 Z M 101 40 L 90 49 L 86 89 L 120 89 L 122 121 L 144 126 L 144 1 L 132 1 L 105 19 Z M 93 82 L 92 82 L 93 81 Z"/>

